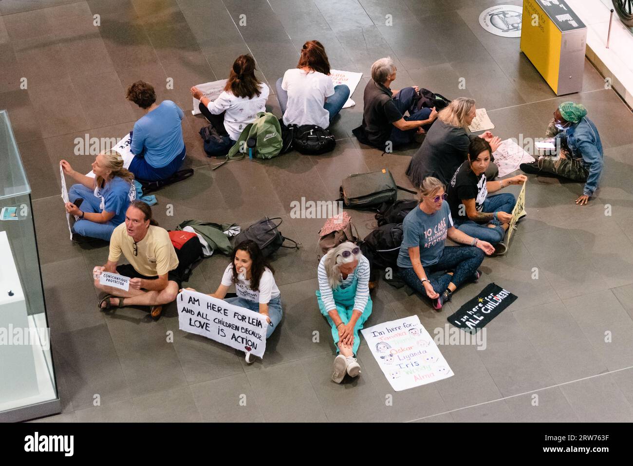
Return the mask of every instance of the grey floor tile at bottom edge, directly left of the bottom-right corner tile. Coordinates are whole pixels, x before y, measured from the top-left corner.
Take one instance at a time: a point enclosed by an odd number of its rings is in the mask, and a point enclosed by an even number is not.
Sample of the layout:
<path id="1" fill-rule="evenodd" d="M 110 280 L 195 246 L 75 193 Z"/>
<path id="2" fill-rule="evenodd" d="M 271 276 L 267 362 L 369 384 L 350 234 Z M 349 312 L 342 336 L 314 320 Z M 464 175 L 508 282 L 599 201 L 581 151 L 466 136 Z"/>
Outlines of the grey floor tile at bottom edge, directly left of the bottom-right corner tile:
<path id="1" fill-rule="evenodd" d="M 505 404 L 520 422 L 579 422 L 560 387 L 506 398 Z"/>

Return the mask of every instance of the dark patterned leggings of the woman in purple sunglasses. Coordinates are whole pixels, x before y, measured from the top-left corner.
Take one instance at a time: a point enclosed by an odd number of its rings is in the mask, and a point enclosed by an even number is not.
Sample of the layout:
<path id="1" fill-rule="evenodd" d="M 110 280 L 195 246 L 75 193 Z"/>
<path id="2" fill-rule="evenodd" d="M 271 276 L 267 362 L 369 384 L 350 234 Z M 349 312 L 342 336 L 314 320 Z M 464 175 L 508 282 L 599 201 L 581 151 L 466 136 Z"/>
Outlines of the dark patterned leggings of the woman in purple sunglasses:
<path id="1" fill-rule="evenodd" d="M 444 293 L 449 283 L 453 282 L 455 287 L 467 281 L 477 272 L 477 268 L 484 261 L 484 251 L 474 246 L 445 246 L 439 261 L 434 265 L 423 266 L 431 286 L 436 293 Z M 427 296 L 427 291 L 422 286 L 422 282 L 415 274 L 413 267 L 398 267 L 400 277 L 408 286 L 413 288 L 422 296 Z M 449 275 L 447 271 L 453 271 Z"/>

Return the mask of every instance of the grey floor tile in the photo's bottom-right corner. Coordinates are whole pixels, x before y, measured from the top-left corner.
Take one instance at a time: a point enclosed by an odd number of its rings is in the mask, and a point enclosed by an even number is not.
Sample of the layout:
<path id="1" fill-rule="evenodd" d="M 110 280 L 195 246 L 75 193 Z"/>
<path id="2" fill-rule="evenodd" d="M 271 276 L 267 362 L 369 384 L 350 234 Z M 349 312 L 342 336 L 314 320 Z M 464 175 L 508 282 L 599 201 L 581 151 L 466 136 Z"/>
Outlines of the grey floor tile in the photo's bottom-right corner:
<path id="1" fill-rule="evenodd" d="M 633 408 L 611 374 L 563 385 L 560 389 L 580 422 L 633 420 Z"/>

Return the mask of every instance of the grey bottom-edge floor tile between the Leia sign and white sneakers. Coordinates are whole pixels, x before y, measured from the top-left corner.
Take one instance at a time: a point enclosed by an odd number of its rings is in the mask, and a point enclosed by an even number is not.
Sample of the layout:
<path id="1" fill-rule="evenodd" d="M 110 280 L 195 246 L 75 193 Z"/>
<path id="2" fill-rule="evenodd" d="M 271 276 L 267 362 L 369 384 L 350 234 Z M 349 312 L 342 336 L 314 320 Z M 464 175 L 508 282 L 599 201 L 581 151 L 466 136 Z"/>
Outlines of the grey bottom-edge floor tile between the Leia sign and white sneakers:
<path id="1" fill-rule="evenodd" d="M 327 420 L 308 372 L 303 362 L 295 361 L 246 373 L 266 422 Z M 326 373 L 323 377 L 329 379 L 331 375 Z"/>

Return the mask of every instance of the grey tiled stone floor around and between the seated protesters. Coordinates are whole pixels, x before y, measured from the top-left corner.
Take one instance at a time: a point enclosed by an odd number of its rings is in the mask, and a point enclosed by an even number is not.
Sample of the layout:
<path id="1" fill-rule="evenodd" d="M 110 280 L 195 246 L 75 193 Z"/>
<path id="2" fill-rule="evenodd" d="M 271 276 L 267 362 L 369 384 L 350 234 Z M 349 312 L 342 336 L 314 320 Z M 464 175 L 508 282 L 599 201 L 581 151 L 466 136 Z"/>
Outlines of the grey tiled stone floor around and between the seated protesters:
<path id="1" fill-rule="evenodd" d="M 501 0 L 3 0 L 0 2 L 0 107 L 7 108 L 32 184 L 46 302 L 63 413 L 54 421 L 631 421 L 633 420 L 633 115 L 586 63 L 582 92 L 557 98 L 519 39 L 488 34 L 480 11 Z M 101 25 L 94 26 L 94 15 Z M 240 25 L 246 15 L 246 25 Z M 385 24 L 392 15 L 392 25 Z M 285 236 L 303 243 L 273 264 L 284 300 L 282 326 L 263 361 L 178 330 L 175 306 L 158 322 L 127 308 L 96 309 L 90 270 L 106 248 L 68 241 L 59 199 L 58 161 L 89 170 L 73 154 L 75 137 L 120 137 L 141 113 L 125 101 L 136 79 L 156 86 L 187 113 L 189 87 L 226 77 L 235 56 L 250 52 L 274 87 L 296 66 L 304 41 L 325 44 L 333 68 L 364 73 L 356 106 L 334 125 L 337 147 L 322 157 L 289 153 L 231 162 L 211 171 L 197 134 L 184 122 L 189 180 L 158 192 L 161 225 L 187 218 L 248 225 L 284 218 Z M 395 88 L 417 84 L 449 97 L 477 99 L 507 137 L 542 137 L 558 103 L 587 106 L 605 147 L 601 189 L 574 205 L 579 184 L 530 177 L 528 217 L 510 252 L 484 261 L 484 277 L 441 313 L 418 296 L 382 282 L 367 325 L 417 314 L 430 332 L 489 282 L 518 299 L 488 327 L 485 351 L 441 346 L 456 375 L 394 393 L 363 343 L 361 377 L 330 381 L 334 348 L 318 312 L 316 232 L 323 220 L 290 218 L 291 201 L 335 199 L 342 177 L 382 167 L 399 184 L 415 147 L 396 154 L 351 137 L 361 120 L 370 65 L 392 56 Z M 28 90 L 20 89 L 27 77 Z M 173 89 L 166 89 L 168 78 Z M 466 89 L 458 89 L 460 78 Z M 274 89 L 273 89 L 274 92 Z M 274 95 L 268 101 L 279 115 Z M 173 206 L 173 217 L 166 215 Z M 611 215 L 606 216 L 606 205 Z M 352 211 L 361 234 L 372 216 Z M 224 256 L 204 260 L 189 286 L 217 286 Z M 532 279 L 534 268 L 538 279 Z M 166 343 L 166 332 L 175 340 Z M 320 343 L 313 343 L 313 331 Z M 611 343 L 605 343 L 610 331 Z M 621 370 L 624 369 L 624 370 Z M 537 391 L 539 390 L 539 391 Z M 532 394 L 539 405 L 532 406 Z M 101 406 L 93 406 L 94 394 Z M 246 395 L 247 405 L 239 406 Z M 393 395 L 392 406 L 385 395 Z M 489 403 L 488 403 L 489 402 Z"/>

